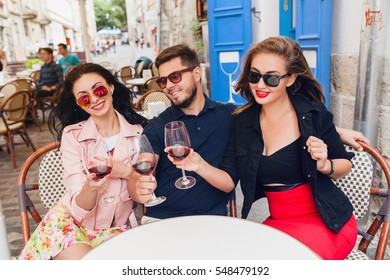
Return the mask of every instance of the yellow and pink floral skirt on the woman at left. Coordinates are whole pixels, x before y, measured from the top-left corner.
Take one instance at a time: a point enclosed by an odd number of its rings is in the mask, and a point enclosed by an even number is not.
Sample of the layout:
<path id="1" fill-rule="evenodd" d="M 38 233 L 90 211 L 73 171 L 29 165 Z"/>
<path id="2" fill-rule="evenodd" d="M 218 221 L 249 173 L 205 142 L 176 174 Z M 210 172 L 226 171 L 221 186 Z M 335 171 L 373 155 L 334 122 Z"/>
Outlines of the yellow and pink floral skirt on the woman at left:
<path id="1" fill-rule="evenodd" d="M 67 207 L 55 204 L 31 235 L 19 259 L 50 260 L 66 248 L 78 243 L 85 243 L 95 248 L 129 228 L 123 225 L 109 229 L 89 229 L 78 223 Z"/>

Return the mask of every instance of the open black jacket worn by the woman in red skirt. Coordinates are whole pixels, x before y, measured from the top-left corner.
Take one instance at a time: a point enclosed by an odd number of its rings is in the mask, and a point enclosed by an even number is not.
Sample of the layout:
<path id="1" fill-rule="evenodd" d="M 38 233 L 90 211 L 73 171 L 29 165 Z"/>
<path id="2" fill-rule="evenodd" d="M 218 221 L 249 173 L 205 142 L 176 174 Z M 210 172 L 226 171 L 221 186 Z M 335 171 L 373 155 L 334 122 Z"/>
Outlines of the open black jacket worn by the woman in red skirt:
<path id="1" fill-rule="evenodd" d="M 333 123 L 333 115 L 321 102 L 310 102 L 299 94 L 290 95 L 298 117 L 301 133 L 303 173 L 312 186 L 313 196 L 325 224 L 334 232 L 339 232 L 352 215 L 352 205 L 344 193 L 331 179 L 317 171 L 316 161 L 307 152 L 306 141 L 313 135 L 328 145 L 330 159 L 350 160 L 353 153 L 347 153 Z M 244 194 L 242 217 L 248 216 L 252 203 L 265 196 L 261 186 L 256 186 L 256 178 L 263 153 L 259 115 L 261 105 L 255 103 L 235 116 L 228 149 L 222 169 L 229 173 L 234 183 L 241 181 Z"/>

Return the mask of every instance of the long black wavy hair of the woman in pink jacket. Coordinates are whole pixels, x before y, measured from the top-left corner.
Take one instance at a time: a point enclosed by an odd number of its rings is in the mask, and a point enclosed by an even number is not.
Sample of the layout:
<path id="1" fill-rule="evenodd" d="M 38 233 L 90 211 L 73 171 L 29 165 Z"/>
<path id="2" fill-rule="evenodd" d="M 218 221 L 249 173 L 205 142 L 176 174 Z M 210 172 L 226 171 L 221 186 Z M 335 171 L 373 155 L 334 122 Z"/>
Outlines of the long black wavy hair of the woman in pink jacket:
<path id="1" fill-rule="evenodd" d="M 80 108 L 73 95 L 73 85 L 84 74 L 96 73 L 102 76 L 107 84 L 114 85 L 112 95 L 114 109 L 123 115 L 130 124 L 145 126 L 147 119 L 138 115 L 132 108 L 133 93 L 111 74 L 106 68 L 94 63 L 75 66 L 66 76 L 57 106 L 50 113 L 48 125 L 53 136 L 61 141 L 64 128 L 89 118 L 89 114 Z"/>

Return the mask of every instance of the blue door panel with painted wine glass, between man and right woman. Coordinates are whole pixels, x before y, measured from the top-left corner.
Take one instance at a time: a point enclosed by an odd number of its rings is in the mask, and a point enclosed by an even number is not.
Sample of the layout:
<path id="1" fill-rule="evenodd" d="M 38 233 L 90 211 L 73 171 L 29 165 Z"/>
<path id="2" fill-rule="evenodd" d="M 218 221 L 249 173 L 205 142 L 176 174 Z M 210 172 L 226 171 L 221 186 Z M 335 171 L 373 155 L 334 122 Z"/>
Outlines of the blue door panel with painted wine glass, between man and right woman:
<path id="1" fill-rule="evenodd" d="M 234 92 L 242 56 L 252 43 L 251 1 L 209 0 L 211 99 L 238 105 L 246 101 Z"/>

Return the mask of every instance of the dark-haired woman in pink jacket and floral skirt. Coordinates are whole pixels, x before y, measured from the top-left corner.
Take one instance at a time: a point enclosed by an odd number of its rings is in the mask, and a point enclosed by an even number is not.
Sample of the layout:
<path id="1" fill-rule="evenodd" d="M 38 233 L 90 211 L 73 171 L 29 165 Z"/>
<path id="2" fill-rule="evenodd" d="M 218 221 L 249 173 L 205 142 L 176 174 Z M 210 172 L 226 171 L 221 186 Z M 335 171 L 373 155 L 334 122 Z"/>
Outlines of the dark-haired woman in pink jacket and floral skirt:
<path id="1" fill-rule="evenodd" d="M 50 131 L 61 141 L 66 193 L 38 225 L 20 259 L 79 259 L 137 226 L 128 193 L 132 168 L 126 164 L 126 138 L 140 135 L 146 119 L 131 101 L 132 92 L 100 65 L 80 64 L 67 75 L 49 118 Z M 83 150 L 90 139 L 103 140 L 113 155 L 112 171 L 103 179 L 96 180 L 85 167 Z M 106 203 L 102 190 L 114 201 Z"/>

